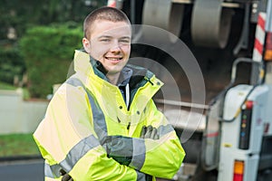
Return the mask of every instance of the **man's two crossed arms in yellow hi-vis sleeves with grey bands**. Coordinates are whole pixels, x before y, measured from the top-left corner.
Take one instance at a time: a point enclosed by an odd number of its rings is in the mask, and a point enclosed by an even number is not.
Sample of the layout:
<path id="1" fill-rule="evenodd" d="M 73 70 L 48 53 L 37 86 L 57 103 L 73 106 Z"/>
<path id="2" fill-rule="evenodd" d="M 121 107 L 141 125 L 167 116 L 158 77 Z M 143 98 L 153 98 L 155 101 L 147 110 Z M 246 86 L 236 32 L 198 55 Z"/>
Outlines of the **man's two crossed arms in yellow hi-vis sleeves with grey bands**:
<path id="1" fill-rule="evenodd" d="M 78 91 L 84 92 L 84 90 L 73 89 L 71 91 L 73 92 L 65 90 L 63 94 L 60 92 L 52 100 L 43 124 L 34 134 L 49 167 L 52 169 L 62 167 L 65 170 L 62 173 L 54 172 L 53 177 L 60 178 L 63 175 L 62 177 L 65 178 L 68 173 L 79 180 L 102 180 L 105 178 L 146 180 L 145 176 L 147 175 L 171 178 L 179 169 L 185 156 L 179 138 L 173 129 L 166 131 L 165 128 L 171 128 L 167 123 L 160 126 L 152 122 L 152 120 L 161 120 L 161 113 L 155 111 L 147 116 L 151 119 L 147 124 L 153 125 L 157 129 L 143 128 L 141 138 L 107 136 L 103 142 L 100 142 L 95 137 L 95 132 L 90 125 L 92 116 L 90 111 L 86 110 L 90 106 L 87 103 L 83 104 L 83 102 L 87 102 L 85 100 L 87 97 L 73 96 L 67 100 L 67 93 L 69 95 L 83 95 Z M 60 120 L 65 120 L 64 127 L 63 121 Z M 85 138 L 92 138 L 92 142 L 84 142 Z M 128 145 L 133 145 L 138 150 L 125 150 L 124 152 L 121 148 Z M 83 148 L 78 148 L 78 146 Z M 75 155 L 76 160 L 69 157 L 74 147 L 77 151 L 85 151 L 80 152 L 81 157 Z M 141 151 L 141 147 L 144 150 Z M 138 152 L 135 154 L 135 151 Z M 66 180 L 72 179 L 69 175 Z"/>

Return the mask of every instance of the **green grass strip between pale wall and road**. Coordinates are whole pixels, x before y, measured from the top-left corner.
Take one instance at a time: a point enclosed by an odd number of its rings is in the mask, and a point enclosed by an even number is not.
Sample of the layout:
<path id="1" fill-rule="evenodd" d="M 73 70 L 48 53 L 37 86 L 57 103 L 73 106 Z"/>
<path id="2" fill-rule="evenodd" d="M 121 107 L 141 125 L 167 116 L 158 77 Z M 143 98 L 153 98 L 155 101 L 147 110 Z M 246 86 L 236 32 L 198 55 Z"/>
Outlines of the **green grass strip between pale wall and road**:
<path id="1" fill-rule="evenodd" d="M 37 156 L 32 134 L 0 135 L 0 157 Z"/>

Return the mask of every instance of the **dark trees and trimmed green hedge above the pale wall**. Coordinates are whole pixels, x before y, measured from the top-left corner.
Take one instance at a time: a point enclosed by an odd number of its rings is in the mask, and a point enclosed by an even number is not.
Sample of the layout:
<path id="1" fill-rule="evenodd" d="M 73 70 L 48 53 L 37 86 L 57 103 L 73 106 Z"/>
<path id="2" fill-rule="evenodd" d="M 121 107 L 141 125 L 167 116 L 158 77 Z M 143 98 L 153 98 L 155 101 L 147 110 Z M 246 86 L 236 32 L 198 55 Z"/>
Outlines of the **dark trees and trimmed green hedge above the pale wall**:
<path id="1" fill-rule="evenodd" d="M 78 23 L 77 27 L 82 27 L 84 17 L 93 9 L 106 5 L 106 3 L 107 0 L 0 0 L 0 81 L 13 84 L 16 76 L 21 81 L 19 82 L 20 86 L 24 85 L 25 81 L 22 81 L 22 74 L 25 71 L 24 59 L 28 64 L 27 69 L 32 67 L 31 70 L 28 70 L 29 76 L 37 75 L 38 72 L 49 69 L 47 68 L 49 65 L 43 64 L 45 61 L 48 61 L 48 64 L 50 62 L 52 67 L 59 67 L 60 70 L 66 69 L 67 62 L 63 60 L 71 60 L 73 49 L 80 47 L 77 46 L 77 43 L 81 43 L 81 39 L 79 41 L 74 35 L 74 31 L 77 32 L 78 29 L 71 27 L 71 24 L 50 26 L 51 28 L 46 26 L 53 23 L 65 24 L 65 22 L 73 21 Z M 44 26 L 39 26 L 40 28 L 32 28 L 42 24 Z M 63 28 L 63 31 L 56 30 L 61 28 Z M 21 46 L 21 49 L 18 50 L 17 43 L 22 37 L 27 36 L 28 40 L 22 40 L 24 46 Z M 21 52 L 21 50 L 24 51 L 22 53 L 24 59 L 20 56 L 19 51 Z M 51 57 L 48 56 L 48 53 Z M 57 63 L 55 62 L 56 56 L 59 60 Z M 36 62 L 31 60 L 36 60 Z M 60 70 L 47 72 L 56 77 L 55 81 L 59 81 L 58 77 L 63 76 Z M 42 80 L 38 80 L 40 78 Z M 51 92 L 49 91 L 51 88 L 44 85 L 44 83 L 47 83 L 44 82 L 47 79 L 47 75 L 42 74 L 36 78 L 31 78 L 30 91 L 32 97 L 44 97 L 45 92 Z M 43 93 L 34 88 L 37 85 L 36 81 L 43 81 L 41 86 L 46 87 L 44 87 Z"/>

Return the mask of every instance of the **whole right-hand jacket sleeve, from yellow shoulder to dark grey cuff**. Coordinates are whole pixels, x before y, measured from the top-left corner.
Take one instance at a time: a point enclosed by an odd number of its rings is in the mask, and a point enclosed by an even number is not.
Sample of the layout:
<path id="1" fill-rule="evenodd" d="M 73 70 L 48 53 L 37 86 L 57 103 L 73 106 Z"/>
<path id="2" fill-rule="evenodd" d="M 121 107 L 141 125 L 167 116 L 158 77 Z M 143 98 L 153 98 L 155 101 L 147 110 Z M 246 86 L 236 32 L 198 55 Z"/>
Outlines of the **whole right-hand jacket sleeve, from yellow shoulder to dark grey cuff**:
<path id="1" fill-rule="evenodd" d="M 185 152 L 175 130 L 151 100 L 146 107 L 146 126 L 159 131 L 159 139 L 109 136 L 107 153 L 129 167 L 157 177 L 172 178 L 180 168 Z M 140 128 L 141 129 L 141 128 Z M 139 129 L 139 130 L 140 130 Z M 108 140 L 108 141 L 107 141 Z"/>

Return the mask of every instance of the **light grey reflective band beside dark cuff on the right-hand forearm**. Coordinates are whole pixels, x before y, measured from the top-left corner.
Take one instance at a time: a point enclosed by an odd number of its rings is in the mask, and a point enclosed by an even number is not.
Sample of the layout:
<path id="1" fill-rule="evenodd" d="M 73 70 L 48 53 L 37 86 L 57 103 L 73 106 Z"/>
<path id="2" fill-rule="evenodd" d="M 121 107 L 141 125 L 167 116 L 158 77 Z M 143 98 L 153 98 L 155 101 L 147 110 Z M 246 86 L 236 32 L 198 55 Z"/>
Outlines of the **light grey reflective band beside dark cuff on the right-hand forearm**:
<path id="1" fill-rule="evenodd" d="M 145 161 L 145 143 L 142 138 L 133 138 L 133 156 L 131 159 L 130 167 L 141 170 Z"/>

